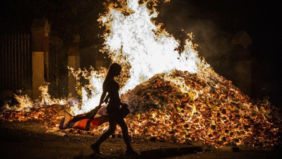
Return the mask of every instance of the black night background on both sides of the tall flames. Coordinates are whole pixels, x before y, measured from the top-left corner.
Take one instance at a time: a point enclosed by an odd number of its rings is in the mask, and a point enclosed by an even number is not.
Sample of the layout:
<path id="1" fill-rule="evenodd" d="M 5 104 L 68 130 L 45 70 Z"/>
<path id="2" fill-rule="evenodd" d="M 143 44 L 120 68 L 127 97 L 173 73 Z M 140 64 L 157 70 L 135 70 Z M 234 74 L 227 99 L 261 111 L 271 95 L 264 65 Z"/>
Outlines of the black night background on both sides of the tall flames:
<path id="1" fill-rule="evenodd" d="M 255 100 L 268 96 L 281 107 L 281 2 L 279 1 L 188 1 L 160 2 L 157 23 L 176 39 L 187 38 L 184 29 L 194 33 L 200 56 L 220 75 L 229 78 L 218 58 L 230 52 L 230 41 L 236 32 L 244 30 L 252 39 L 252 94 Z M 102 47 L 103 28 L 97 19 L 104 12 L 101 0 L 4 0 L 0 4 L 0 33 L 29 33 L 33 19 L 47 18 L 51 33 L 58 35 L 66 46 L 80 36 L 81 57 L 88 57 L 81 67 L 94 64 L 94 54 Z M 88 49 L 90 48 L 90 49 Z"/>

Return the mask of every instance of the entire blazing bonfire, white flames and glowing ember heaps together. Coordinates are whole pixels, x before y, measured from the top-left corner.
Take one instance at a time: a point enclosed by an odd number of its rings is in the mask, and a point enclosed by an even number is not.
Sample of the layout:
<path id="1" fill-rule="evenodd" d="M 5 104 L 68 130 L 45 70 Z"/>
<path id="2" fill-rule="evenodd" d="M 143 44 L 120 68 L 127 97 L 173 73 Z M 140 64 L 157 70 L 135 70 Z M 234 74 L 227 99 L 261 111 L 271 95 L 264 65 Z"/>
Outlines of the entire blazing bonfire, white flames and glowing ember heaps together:
<path id="1" fill-rule="evenodd" d="M 106 28 L 101 51 L 123 66 L 117 81 L 133 112 L 127 118 L 131 135 L 157 136 L 174 142 L 201 139 L 217 146 L 232 142 L 277 143 L 281 135 L 277 110 L 267 102 L 254 103 L 231 81 L 216 74 L 198 57 L 192 34 L 185 41 L 185 49 L 177 50 L 179 41 L 161 29 L 161 24 L 155 25 L 153 19 L 158 13 L 155 8 L 147 8 L 157 1 L 145 2 L 148 3 L 139 4 L 138 0 L 105 3 L 107 12 L 98 19 Z M 76 115 L 98 105 L 106 71 L 106 68 L 89 72 L 70 68 L 77 81 L 81 77 L 89 80 L 88 85 L 77 85 L 81 101 L 54 99 L 44 86 L 40 88 L 40 101 L 16 96 L 19 104 L 7 107 L 10 110 L 5 110 L 0 118 L 42 120 L 47 131 L 58 129 L 62 110 L 72 110 Z M 107 124 L 102 125 L 97 131 L 106 127 Z"/>

